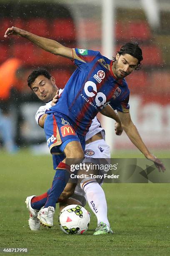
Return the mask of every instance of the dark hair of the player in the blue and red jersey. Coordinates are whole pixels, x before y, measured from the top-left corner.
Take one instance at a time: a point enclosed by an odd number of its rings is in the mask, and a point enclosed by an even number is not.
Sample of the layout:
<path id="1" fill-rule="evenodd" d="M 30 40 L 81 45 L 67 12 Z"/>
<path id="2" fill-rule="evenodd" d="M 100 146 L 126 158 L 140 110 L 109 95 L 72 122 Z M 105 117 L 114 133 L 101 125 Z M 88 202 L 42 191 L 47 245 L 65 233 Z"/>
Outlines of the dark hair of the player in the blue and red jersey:
<path id="1" fill-rule="evenodd" d="M 138 42 L 128 42 L 125 45 L 123 45 L 120 48 L 120 51 L 117 51 L 119 55 L 124 55 L 124 54 L 130 54 L 131 56 L 135 57 L 138 59 L 138 65 L 135 68 L 136 70 L 141 68 L 140 61 L 143 60 L 142 56 L 142 49 L 139 47 Z M 115 58 L 113 58 L 115 60 Z"/>

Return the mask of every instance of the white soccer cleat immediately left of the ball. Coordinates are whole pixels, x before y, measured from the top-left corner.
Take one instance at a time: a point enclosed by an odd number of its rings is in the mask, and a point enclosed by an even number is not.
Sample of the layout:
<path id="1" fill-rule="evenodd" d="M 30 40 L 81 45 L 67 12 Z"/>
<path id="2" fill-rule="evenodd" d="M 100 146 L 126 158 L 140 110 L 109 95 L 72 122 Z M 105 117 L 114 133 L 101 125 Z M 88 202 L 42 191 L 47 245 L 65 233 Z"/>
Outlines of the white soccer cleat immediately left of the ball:
<path id="1" fill-rule="evenodd" d="M 48 206 L 47 208 L 42 208 L 38 212 L 38 216 L 37 216 L 37 218 L 40 220 L 40 224 L 51 228 L 53 226 L 54 213 L 55 213 L 55 209 L 52 206 Z"/>

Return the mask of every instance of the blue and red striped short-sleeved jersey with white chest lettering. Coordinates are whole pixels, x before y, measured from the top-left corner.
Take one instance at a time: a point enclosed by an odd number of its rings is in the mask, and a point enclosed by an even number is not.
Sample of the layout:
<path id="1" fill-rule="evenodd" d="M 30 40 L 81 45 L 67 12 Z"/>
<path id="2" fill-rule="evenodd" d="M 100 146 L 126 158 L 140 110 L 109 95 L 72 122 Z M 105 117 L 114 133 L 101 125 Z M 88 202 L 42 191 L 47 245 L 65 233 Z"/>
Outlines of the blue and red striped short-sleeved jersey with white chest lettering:
<path id="1" fill-rule="evenodd" d="M 46 113 L 60 113 L 72 120 L 75 130 L 85 135 L 97 113 L 110 104 L 129 112 L 129 89 L 125 79 L 116 79 L 113 61 L 99 51 L 72 49 L 77 69 L 68 80 L 55 106 Z"/>

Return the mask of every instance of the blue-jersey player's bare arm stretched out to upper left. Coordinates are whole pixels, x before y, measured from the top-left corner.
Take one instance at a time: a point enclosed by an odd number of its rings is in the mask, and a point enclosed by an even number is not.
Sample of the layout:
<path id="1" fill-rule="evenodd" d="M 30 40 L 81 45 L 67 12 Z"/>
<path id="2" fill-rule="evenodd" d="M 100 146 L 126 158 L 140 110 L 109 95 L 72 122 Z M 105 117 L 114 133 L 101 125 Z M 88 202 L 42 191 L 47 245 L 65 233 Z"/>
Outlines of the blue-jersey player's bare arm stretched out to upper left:
<path id="1" fill-rule="evenodd" d="M 44 49 L 45 51 L 49 51 L 52 54 L 72 59 L 72 49 L 63 46 L 62 44 L 59 44 L 55 40 L 37 36 L 35 34 L 32 34 L 28 31 L 25 31 L 17 27 L 8 28 L 7 31 L 5 32 L 4 37 L 7 38 L 10 35 L 25 37 L 32 43 L 36 44 L 38 47 Z"/>

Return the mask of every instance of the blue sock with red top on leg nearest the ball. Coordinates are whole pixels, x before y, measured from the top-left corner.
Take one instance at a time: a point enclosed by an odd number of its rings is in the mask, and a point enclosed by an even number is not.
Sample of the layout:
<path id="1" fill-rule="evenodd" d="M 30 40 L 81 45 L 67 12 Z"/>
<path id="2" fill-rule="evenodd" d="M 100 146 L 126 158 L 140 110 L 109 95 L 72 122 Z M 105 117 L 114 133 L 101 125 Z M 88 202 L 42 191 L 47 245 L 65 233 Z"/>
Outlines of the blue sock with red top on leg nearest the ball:
<path id="1" fill-rule="evenodd" d="M 70 166 L 60 162 L 56 168 L 56 173 L 52 182 L 52 187 L 50 193 L 47 197 L 47 202 L 44 205 L 44 208 L 48 206 L 53 206 L 55 208 L 56 202 L 60 197 L 62 191 L 64 190 L 69 178 L 70 178 Z"/>

